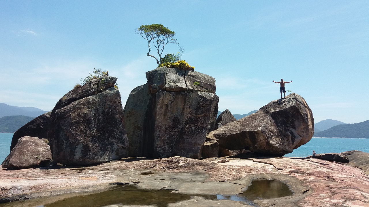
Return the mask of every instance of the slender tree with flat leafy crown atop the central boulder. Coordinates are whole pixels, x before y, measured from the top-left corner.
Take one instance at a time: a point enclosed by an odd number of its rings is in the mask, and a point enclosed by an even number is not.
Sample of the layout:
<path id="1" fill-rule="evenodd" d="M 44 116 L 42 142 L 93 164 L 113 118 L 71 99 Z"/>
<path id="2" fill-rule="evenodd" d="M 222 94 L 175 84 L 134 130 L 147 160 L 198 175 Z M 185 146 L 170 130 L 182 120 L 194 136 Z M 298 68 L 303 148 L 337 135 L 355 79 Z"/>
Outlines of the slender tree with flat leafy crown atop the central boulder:
<path id="1" fill-rule="evenodd" d="M 149 52 L 147 53 L 147 56 L 154 57 L 158 65 L 160 65 L 163 62 L 166 62 L 166 60 L 168 61 L 168 59 L 179 60 L 180 57 L 182 56 L 184 49 L 178 45 L 181 53 L 177 54 L 169 53 L 169 55 L 166 54 L 165 57 L 163 58 L 161 57 L 166 44 L 177 42 L 177 40 L 173 38 L 176 35 L 176 33 L 170 31 L 170 29 L 164 27 L 162 24 L 141 25 L 138 29 L 135 29 L 135 33 L 141 35 L 144 39 L 146 39 L 149 47 Z M 153 55 L 150 55 L 152 45 L 155 46 L 156 52 L 159 55 L 159 59 L 157 59 Z"/>

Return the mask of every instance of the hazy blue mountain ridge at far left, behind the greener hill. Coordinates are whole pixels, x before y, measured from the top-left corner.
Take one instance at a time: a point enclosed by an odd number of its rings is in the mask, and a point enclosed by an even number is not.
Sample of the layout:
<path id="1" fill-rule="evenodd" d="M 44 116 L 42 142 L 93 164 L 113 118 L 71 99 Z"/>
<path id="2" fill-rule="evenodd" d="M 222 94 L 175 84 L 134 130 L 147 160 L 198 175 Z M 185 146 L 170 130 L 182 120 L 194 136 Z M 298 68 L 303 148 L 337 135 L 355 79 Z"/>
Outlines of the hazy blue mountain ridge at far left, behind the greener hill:
<path id="1" fill-rule="evenodd" d="M 17 115 L 37 117 L 46 112 L 47 111 L 34 107 L 9 106 L 5 103 L 0 103 L 0 118 L 4 116 L 17 116 Z"/>

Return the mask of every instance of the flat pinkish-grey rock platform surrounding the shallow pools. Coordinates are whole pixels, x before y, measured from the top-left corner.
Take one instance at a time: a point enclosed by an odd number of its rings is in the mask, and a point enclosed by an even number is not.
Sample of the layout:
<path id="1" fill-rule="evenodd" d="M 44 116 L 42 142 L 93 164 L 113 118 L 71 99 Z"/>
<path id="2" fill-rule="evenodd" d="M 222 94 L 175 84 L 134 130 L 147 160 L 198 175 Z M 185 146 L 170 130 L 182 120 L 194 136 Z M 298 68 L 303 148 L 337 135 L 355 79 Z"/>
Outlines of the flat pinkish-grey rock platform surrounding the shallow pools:
<path id="1" fill-rule="evenodd" d="M 171 157 L 162 159 L 123 158 L 81 168 L 52 167 L 10 171 L 0 168 L 2 202 L 41 196 L 44 204 L 70 192 L 92 193 L 116 185 L 141 189 L 166 189 L 184 194 L 242 193 L 251 180 L 280 180 L 294 194 L 277 199 L 255 200 L 256 206 L 337 207 L 369 206 L 369 176 L 361 169 L 338 162 L 309 158 L 225 158 L 204 160 Z M 0 206 L 33 206 L 37 199 Z M 205 200 L 193 197 L 169 206 L 249 206 L 232 200 Z"/>

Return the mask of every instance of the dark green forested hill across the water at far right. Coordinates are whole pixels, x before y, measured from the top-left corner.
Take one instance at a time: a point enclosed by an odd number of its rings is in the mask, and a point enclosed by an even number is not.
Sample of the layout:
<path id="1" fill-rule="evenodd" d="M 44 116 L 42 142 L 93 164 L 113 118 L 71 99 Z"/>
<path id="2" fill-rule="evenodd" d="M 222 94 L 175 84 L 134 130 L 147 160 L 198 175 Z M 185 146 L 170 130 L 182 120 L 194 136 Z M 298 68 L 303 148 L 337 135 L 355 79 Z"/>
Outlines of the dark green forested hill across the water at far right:
<path id="1" fill-rule="evenodd" d="M 339 124 L 314 133 L 314 137 L 369 138 L 369 120 L 355 124 Z"/>

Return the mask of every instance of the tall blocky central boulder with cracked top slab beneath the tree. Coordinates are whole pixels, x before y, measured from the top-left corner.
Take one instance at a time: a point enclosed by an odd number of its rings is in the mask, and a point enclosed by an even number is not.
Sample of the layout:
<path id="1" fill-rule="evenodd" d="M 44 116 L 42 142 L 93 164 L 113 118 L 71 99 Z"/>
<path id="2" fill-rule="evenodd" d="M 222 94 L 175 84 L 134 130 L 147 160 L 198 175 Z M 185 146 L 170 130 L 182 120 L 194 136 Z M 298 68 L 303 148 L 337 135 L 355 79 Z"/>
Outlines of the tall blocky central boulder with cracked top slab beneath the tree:
<path id="1" fill-rule="evenodd" d="M 146 78 L 124 108 L 128 156 L 200 158 L 218 110 L 215 79 L 166 67 L 147 72 Z"/>

